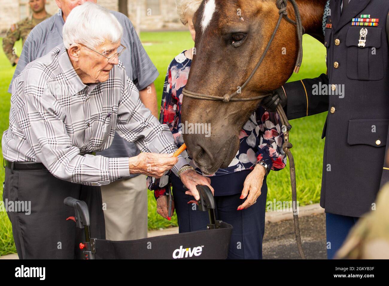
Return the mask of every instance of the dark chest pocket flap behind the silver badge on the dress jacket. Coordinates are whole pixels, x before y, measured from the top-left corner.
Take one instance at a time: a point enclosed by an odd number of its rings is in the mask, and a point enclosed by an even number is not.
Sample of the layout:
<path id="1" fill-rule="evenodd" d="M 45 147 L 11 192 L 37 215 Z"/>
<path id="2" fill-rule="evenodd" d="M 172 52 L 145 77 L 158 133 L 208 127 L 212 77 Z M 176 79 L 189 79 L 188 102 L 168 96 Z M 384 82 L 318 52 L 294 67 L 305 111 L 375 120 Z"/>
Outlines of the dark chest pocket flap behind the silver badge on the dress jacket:
<path id="1" fill-rule="evenodd" d="M 364 43 L 364 47 L 375 47 L 380 48 L 381 47 L 381 28 L 377 27 L 369 27 L 369 26 L 351 26 L 349 27 L 349 30 L 347 30 L 347 36 L 346 36 L 346 46 L 357 46 L 359 44 L 359 37 L 361 33 L 361 29 L 366 28 L 367 34 L 366 34 L 366 42 Z M 362 38 L 364 39 L 364 38 Z M 360 46 L 360 49 L 363 49 L 364 47 Z"/>

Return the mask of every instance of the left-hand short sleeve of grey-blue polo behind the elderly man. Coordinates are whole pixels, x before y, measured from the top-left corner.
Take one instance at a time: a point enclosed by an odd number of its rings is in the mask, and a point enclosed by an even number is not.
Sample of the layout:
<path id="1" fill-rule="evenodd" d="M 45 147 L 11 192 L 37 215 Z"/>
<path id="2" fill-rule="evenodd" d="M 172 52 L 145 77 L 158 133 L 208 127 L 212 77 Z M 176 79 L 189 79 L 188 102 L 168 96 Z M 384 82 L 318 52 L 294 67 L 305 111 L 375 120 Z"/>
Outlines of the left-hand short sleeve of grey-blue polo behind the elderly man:
<path id="1" fill-rule="evenodd" d="M 35 26 L 27 36 L 27 39 L 23 45 L 21 55 L 19 57 L 18 64 L 16 65 L 14 75 L 8 87 L 9 93 L 12 93 L 12 82 L 14 81 L 14 79 L 23 71 L 23 69 L 26 67 L 26 65 L 28 65 L 28 63 L 37 59 L 36 50 L 38 49 L 38 45 L 35 43 L 34 39 L 41 39 L 41 37 L 39 36 L 38 28 L 39 27 Z"/>

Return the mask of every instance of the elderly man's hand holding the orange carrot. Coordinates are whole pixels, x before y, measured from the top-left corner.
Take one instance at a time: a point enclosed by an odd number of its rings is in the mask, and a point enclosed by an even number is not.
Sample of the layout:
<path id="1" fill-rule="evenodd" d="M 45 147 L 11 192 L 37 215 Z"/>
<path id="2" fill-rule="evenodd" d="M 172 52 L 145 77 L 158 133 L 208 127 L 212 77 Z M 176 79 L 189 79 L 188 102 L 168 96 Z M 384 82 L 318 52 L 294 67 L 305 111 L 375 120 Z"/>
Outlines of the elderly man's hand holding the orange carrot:
<path id="1" fill-rule="evenodd" d="M 128 158 L 130 174 L 144 174 L 160 178 L 178 162 L 172 154 L 142 152 L 138 156 Z"/>

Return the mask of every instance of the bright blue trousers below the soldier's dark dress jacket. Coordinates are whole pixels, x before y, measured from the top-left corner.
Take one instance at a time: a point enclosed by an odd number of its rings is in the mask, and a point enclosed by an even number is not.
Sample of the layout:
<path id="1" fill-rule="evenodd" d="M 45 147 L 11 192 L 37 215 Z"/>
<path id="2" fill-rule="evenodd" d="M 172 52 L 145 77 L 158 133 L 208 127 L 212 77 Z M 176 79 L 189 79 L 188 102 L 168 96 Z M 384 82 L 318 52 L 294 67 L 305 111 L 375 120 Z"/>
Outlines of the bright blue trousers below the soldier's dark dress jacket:
<path id="1" fill-rule="evenodd" d="M 358 218 L 326 212 L 327 258 L 333 259 Z"/>

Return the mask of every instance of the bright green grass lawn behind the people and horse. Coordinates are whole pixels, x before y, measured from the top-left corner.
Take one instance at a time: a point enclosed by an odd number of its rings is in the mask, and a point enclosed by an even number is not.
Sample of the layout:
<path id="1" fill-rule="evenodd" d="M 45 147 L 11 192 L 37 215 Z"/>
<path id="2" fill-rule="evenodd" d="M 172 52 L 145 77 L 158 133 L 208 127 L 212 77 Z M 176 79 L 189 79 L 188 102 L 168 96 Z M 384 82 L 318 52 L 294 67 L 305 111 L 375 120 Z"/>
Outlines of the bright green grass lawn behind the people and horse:
<path id="1" fill-rule="evenodd" d="M 189 32 L 143 32 L 141 40 L 145 43 L 145 50 L 159 71 L 159 77 L 155 81 L 158 102 L 161 102 L 163 82 L 166 69 L 172 59 L 184 49 L 193 47 L 193 41 Z M 325 72 L 325 48 L 310 36 L 303 38 L 304 58 L 300 72 L 293 74 L 290 81 L 307 77 L 316 77 Z M 17 51 L 21 51 L 18 43 Z M 124 54 L 123 54 L 124 55 Z M 0 49 L 0 132 L 8 128 L 8 116 L 10 108 L 10 95 L 7 93 L 9 82 L 15 68 L 11 67 Z M 308 118 L 291 121 L 293 126 L 290 133 L 290 141 L 293 144 L 291 150 L 296 164 L 297 198 L 300 205 L 319 202 L 321 185 L 322 152 L 324 140 L 321 139 L 322 126 L 326 114 L 318 114 Z M 2 154 L 0 159 L 3 160 Z M 291 190 L 289 181 L 289 166 L 279 172 L 270 172 L 268 183 L 268 201 L 290 201 Z M 0 182 L 4 181 L 4 169 L 0 171 Z M 0 189 L 2 195 L 2 188 Z M 174 215 L 171 221 L 161 218 L 156 213 L 156 204 L 152 192 L 148 193 L 148 218 L 149 229 L 166 228 L 177 225 L 177 217 Z M 12 238 L 11 223 L 6 212 L 0 212 L 0 255 L 16 252 Z"/>

